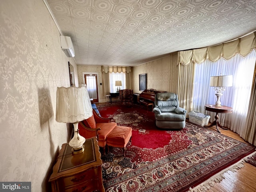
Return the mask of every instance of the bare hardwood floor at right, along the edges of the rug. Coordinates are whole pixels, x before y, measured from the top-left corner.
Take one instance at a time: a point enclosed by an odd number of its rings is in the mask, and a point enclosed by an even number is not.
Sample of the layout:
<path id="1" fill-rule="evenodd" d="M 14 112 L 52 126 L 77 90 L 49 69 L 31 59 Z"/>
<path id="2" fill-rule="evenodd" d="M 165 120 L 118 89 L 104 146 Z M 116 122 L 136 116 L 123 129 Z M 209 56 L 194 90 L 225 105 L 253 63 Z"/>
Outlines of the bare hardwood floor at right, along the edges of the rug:
<path id="1" fill-rule="evenodd" d="M 216 127 L 210 127 L 216 131 Z M 222 130 L 220 132 L 233 139 L 245 142 L 238 134 L 231 130 Z M 247 143 L 247 142 L 245 142 Z M 249 163 L 244 163 L 244 167 L 236 172 L 228 171 L 224 173 L 225 179 L 220 183 L 215 183 L 214 186 L 208 190 L 209 192 L 256 192 L 256 167 Z"/>

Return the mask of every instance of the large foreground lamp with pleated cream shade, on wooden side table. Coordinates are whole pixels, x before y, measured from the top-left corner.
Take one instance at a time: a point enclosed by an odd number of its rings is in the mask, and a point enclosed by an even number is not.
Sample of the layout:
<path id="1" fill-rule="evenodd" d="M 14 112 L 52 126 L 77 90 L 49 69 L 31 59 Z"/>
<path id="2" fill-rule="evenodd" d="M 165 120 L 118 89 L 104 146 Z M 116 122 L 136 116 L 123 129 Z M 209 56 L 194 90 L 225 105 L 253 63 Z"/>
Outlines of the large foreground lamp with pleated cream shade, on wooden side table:
<path id="1" fill-rule="evenodd" d="M 85 138 L 79 134 L 78 122 L 91 116 L 92 105 L 86 87 L 57 88 L 56 121 L 74 125 L 74 137 L 69 142 L 73 154 L 84 151 Z"/>

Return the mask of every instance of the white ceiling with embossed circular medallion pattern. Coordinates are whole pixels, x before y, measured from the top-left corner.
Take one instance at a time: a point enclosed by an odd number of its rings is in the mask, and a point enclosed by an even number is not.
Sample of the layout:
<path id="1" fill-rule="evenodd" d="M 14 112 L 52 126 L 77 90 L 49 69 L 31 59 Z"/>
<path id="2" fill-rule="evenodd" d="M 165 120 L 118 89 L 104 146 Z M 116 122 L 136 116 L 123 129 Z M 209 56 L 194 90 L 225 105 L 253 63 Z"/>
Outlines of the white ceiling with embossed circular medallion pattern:
<path id="1" fill-rule="evenodd" d="M 75 60 L 136 66 L 256 30 L 256 0 L 47 0 Z"/>

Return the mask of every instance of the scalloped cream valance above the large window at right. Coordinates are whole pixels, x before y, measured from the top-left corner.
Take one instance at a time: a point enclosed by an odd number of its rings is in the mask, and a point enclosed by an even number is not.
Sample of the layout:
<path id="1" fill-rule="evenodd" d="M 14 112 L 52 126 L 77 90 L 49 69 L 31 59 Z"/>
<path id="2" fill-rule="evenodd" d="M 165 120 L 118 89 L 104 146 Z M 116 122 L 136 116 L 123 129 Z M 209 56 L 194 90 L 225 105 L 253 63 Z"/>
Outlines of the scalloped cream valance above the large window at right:
<path id="1" fill-rule="evenodd" d="M 209 59 L 212 62 L 216 62 L 221 57 L 229 60 L 235 54 L 240 54 L 241 56 L 245 57 L 254 48 L 256 48 L 256 32 L 253 32 L 242 38 L 238 38 L 237 40 L 222 43 L 216 46 L 180 51 L 178 52 L 178 64 L 201 64 L 206 59 Z"/>

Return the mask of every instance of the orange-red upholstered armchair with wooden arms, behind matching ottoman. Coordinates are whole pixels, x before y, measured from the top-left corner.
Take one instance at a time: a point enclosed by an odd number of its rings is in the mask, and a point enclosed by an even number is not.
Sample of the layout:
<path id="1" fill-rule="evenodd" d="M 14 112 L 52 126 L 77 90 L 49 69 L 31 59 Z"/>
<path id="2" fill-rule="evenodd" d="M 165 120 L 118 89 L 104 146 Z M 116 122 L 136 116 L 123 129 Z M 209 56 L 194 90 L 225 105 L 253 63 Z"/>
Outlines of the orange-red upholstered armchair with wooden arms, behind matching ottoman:
<path id="1" fill-rule="evenodd" d="M 103 118 L 92 109 L 93 115 L 78 123 L 79 134 L 84 138 L 97 137 L 98 145 L 103 148 L 105 154 L 107 135 L 116 127 L 115 122 L 110 122 L 112 118 Z"/>

